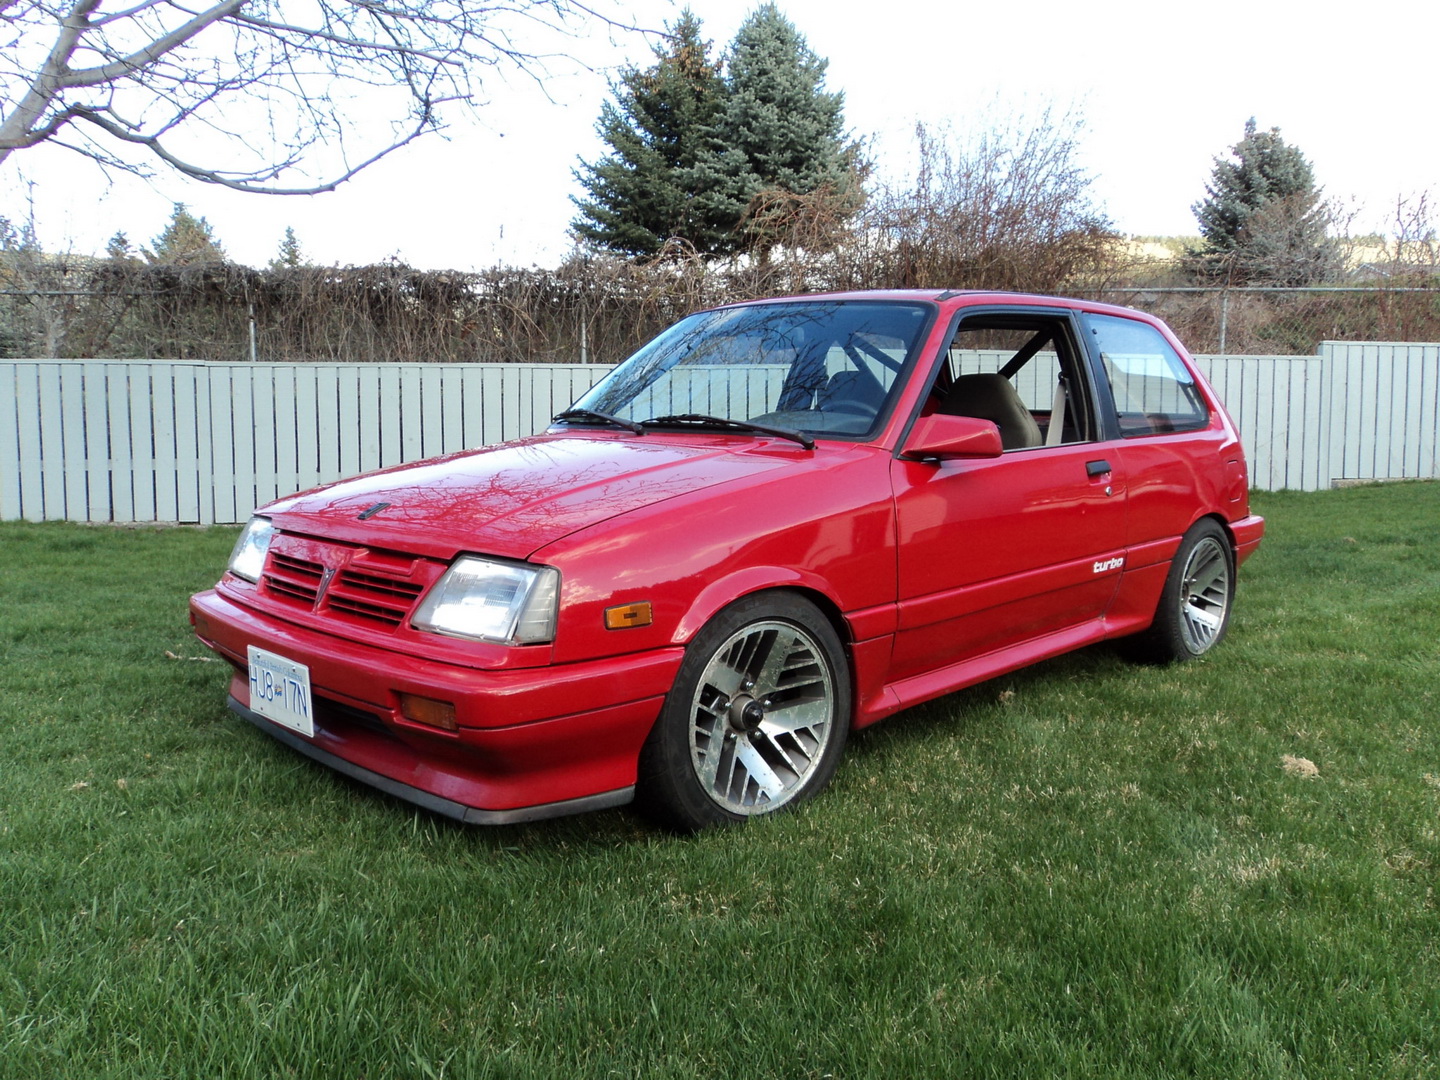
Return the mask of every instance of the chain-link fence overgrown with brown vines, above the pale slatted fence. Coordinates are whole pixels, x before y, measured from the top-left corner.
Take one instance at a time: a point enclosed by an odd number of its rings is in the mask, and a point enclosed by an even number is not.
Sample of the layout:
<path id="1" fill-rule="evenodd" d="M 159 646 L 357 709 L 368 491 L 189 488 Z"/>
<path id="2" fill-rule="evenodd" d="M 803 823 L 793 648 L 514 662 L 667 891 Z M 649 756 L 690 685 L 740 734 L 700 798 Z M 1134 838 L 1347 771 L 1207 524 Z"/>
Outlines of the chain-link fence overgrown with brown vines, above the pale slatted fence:
<path id="1" fill-rule="evenodd" d="M 783 269 L 783 268 L 782 268 Z M 703 261 L 577 259 L 481 274 L 402 265 L 0 265 L 0 357 L 347 363 L 615 363 L 680 315 L 863 287 Z M 1313 354 L 1320 341 L 1440 341 L 1421 287 L 1070 289 L 1151 311 L 1195 353 Z"/>

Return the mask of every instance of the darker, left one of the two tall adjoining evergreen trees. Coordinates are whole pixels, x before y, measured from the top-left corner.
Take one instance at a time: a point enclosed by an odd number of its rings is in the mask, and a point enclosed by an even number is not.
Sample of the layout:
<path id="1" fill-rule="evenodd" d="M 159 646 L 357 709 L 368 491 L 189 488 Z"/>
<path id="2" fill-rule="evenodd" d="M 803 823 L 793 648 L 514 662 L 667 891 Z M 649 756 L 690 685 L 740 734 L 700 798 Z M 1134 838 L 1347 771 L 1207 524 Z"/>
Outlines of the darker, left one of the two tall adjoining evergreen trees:
<path id="1" fill-rule="evenodd" d="M 736 217 L 697 200 L 696 164 L 721 108 L 720 66 L 688 9 L 655 49 L 655 63 L 628 68 L 600 109 L 596 131 L 611 153 L 576 170 L 588 199 L 572 228 L 628 255 L 654 255 L 675 238 L 708 252 Z"/>

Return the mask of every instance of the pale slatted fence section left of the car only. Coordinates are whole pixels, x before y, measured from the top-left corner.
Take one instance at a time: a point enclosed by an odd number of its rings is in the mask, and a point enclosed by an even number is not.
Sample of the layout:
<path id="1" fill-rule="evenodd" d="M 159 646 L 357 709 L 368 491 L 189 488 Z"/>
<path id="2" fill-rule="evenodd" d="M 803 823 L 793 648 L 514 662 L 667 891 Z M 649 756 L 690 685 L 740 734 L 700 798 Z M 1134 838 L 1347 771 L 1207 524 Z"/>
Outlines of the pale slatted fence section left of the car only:
<path id="1" fill-rule="evenodd" d="M 0 360 L 0 520 L 243 521 L 291 491 L 533 435 L 605 370 Z"/>

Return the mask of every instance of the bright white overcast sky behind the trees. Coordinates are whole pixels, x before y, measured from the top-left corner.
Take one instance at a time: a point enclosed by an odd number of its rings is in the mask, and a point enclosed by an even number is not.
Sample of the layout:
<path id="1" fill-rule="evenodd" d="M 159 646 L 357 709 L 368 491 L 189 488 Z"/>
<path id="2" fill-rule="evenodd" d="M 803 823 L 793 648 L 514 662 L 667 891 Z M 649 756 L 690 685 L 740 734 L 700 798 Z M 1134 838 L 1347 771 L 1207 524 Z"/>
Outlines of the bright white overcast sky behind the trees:
<path id="1" fill-rule="evenodd" d="M 753 9 L 696 0 L 721 50 Z M 1254 117 L 1279 127 L 1315 167 L 1326 194 L 1384 229 L 1398 196 L 1440 192 L 1434 42 L 1440 6 L 1371 0 L 1345 9 L 1277 0 L 1156 4 L 1153 0 L 1035 0 L 865 4 L 780 0 L 780 10 L 829 60 L 827 88 L 844 91 L 851 132 L 873 137 L 878 167 L 906 160 L 916 121 L 972 131 L 999 112 L 1045 107 L 1083 115 L 1079 140 L 1093 192 L 1129 235 L 1192 235 L 1212 158 Z M 678 7 L 635 0 L 649 26 Z M 488 86 L 480 118 L 448 140 L 408 147 L 336 193 L 230 193 L 173 176 L 105 177 L 58 148 L 13 154 L 0 167 L 0 215 L 23 219 L 32 193 L 49 251 L 101 252 L 124 229 L 145 243 L 176 202 L 209 219 L 229 255 L 264 265 L 292 226 L 311 261 L 369 264 L 397 256 L 422 268 L 554 265 L 570 248 L 577 186 L 595 160 L 608 79 L 626 60 L 649 63 L 632 36 L 605 33 L 567 48 L 593 71 L 556 72 L 550 99 L 523 79 Z"/>

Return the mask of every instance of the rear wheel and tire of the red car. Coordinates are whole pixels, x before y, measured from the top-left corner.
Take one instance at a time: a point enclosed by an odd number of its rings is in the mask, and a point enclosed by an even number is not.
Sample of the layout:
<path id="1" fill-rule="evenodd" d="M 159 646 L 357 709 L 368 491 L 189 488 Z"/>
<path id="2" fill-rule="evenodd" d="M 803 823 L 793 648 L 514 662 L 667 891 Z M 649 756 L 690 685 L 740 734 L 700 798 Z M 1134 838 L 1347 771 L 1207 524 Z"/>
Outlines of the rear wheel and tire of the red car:
<path id="1" fill-rule="evenodd" d="M 1181 539 L 1155 622 L 1135 638 L 1132 651 L 1152 664 L 1202 657 L 1224 639 L 1234 602 L 1236 554 L 1230 537 L 1207 517 Z"/>

